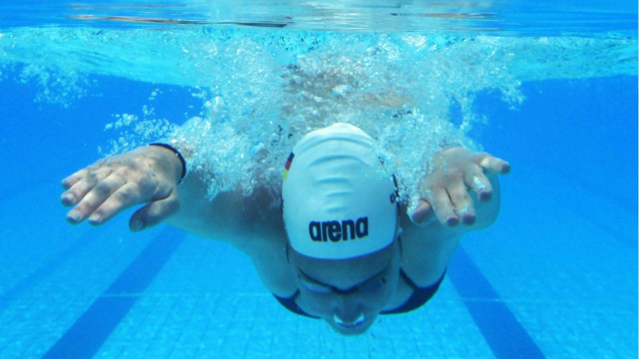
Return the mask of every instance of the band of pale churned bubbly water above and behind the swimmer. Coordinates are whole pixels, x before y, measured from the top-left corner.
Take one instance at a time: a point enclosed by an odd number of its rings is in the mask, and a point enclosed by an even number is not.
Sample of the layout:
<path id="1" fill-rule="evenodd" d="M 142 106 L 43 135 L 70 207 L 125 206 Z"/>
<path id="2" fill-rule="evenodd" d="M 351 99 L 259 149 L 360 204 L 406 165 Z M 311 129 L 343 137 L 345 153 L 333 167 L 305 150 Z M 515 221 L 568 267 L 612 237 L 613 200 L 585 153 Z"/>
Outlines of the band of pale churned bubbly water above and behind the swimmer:
<path id="1" fill-rule="evenodd" d="M 194 110 L 201 116 L 177 126 L 176 119 L 156 118 L 151 105 L 137 115 L 114 116 L 104 126 L 114 140 L 103 150 L 118 153 L 175 140 L 189 152 L 190 169 L 208 180 L 212 197 L 238 187 L 249 194 L 256 183 L 277 196 L 279 171 L 263 170 L 281 168 L 306 132 L 348 121 L 378 139 L 378 151 L 401 179 L 401 195 L 415 198 L 436 151 L 481 149 L 468 137 L 473 126 L 486 121 L 474 108 L 478 93 L 497 91 L 517 108 L 525 100 L 526 81 L 637 71 L 636 35 L 127 28 L 88 36 L 93 33 L 89 28 L 3 30 L 0 66 L 16 66 L 19 80 L 36 84 L 36 101 L 63 107 L 91 93 L 92 75 L 188 86 L 201 101 Z M 153 90 L 149 101 L 161 90 Z M 454 103 L 456 125 L 450 121 Z"/>

